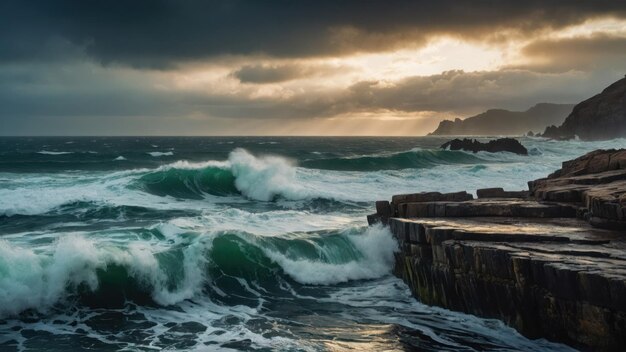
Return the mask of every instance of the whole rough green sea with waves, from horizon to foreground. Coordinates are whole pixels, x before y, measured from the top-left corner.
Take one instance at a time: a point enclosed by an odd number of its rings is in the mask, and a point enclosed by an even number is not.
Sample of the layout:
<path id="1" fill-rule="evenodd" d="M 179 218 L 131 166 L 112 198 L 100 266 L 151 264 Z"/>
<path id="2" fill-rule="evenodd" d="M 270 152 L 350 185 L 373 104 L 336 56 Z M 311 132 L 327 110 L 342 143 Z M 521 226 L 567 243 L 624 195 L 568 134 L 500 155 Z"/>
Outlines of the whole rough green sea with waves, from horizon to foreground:
<path id="1" fill-rule="evenodd" d="M 527 189 L 606 142 L 2 137 L 0 351 L 568 351 L 415 300 L 393 194 Z"/>

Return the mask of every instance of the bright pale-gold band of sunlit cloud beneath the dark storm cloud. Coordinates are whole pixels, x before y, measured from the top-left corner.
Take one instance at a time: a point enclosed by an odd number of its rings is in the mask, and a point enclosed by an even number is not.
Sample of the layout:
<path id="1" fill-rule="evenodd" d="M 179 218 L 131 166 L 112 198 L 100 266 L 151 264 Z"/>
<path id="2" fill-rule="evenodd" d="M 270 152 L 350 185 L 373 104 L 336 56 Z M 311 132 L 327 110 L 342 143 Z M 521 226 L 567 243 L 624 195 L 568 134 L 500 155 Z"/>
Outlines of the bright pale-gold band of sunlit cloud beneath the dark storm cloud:
<path id="1" fill-rule="evenodd" d="M 393 82 L 450 70 L 498 70 L 505 66 L 541 60 L 526 57 L 522 52 L 525 46 L 534 41 L 584 38 L 599 33 L 626 37 L 626 21 L 614 18 L 590 20 L 559 31 L 545 32 L 538 37 L 515 37 L 508 42 L 498 43 L 479 43 L 441 36 L 429 40 L 422 47 L 340 57 L 235 57 L 232 60 L 183 66 L 171 79 L 173 87 L 179 89 L 211 90 L 212 93 L 220 94 L 244 93 L 252 98 L 288 98 L 304 90 L 345 88 L 361 81 Z M 266 72 L 266 75 L 273 72 L 278 78 L 276 81 L 268 79 L 267 82 L 240 80 L 233 72 L 242 67 L 271 71 Z M 281 70 L 286 72 L 281 74 Z"/>

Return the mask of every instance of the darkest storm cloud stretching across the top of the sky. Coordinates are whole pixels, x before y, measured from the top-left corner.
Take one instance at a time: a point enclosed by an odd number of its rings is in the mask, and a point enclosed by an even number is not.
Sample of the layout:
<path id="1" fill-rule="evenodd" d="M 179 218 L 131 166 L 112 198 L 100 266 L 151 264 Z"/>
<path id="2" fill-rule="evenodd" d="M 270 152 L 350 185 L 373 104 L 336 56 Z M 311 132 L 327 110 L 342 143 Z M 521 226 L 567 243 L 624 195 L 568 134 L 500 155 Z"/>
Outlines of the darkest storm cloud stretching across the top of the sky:
<path id="1" fill-rule="evenodd" d="M 499 40 L 624 13 L 614 0 L 6 0 L 0 61 L 58 56 L 55 41 L 105 64 L 153 68 L 223 54 L 342 55 L 420 44 L 436 34 Z"/>

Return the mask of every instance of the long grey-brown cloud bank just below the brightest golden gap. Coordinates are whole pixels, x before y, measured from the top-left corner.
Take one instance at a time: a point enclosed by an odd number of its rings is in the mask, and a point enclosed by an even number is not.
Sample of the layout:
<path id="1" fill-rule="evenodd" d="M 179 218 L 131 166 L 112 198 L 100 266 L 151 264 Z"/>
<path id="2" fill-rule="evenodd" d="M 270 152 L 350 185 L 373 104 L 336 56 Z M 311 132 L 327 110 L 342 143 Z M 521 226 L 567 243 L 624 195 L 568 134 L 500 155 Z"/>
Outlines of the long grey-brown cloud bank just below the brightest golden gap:
<path id="1" fill-rule="evenodd" d="M 610 73 L 541 74 L 528 70 L 448 71 L 397 82 L 363 81 L 337 92 L 282 101 L 303 116 L 435 111 L 467 115 L 486 108 L 524 110 L 539 102 L 575 103 L 619 79 Z M 290 111 L 290 110 L 288 110 Z M 292 113 L 296 111 L 291 110 Z"/>

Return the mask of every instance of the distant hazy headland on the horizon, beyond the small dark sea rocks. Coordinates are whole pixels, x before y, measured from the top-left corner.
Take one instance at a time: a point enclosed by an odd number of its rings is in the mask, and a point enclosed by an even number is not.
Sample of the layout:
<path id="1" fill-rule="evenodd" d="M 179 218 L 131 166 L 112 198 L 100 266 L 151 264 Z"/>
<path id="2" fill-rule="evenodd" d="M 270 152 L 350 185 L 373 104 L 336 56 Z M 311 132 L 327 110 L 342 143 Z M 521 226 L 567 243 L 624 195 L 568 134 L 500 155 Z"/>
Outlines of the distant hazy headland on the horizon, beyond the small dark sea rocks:
<path id="1" fill-rule="evenodd" d="M 430 135 L 519 136 L 528 131 L 543 131 L 546 126 L 562 123 L 573 107 L 573 104 L 541 103 L 526 111 L 491 109 L 463 120 L 457 118 L 454 121 L 441 121 Z"/>

